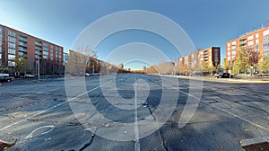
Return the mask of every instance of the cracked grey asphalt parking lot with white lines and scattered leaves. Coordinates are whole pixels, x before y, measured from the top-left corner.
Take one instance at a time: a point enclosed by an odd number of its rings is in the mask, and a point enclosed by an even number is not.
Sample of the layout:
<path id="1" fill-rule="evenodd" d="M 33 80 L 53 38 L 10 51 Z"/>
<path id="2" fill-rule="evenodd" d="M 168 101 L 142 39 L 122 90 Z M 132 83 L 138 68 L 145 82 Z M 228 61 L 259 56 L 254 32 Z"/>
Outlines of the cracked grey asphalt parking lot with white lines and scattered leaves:
<path id="1" fill-rule="evenodd" d="M 0 138 L 16 141 L 8 150 L 243 150 L 240 140 L 269 137 L 269 84 L 66 78 L 0 85 Z"/>

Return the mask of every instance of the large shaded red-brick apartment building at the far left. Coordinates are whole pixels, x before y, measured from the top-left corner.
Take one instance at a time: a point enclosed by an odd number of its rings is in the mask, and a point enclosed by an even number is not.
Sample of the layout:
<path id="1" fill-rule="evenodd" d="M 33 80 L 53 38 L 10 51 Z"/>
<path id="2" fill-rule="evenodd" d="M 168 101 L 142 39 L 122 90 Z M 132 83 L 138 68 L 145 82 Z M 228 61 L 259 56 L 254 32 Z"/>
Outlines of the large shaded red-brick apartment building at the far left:
<path id="1" fill-rule="evenodd" d="M 8 72 L 15 71 L 14 59 L 22 57 L 26 58 L 24 72 L 62 74 L 63 50 L 62 46 L 0 24 L 0 64 Z"/>

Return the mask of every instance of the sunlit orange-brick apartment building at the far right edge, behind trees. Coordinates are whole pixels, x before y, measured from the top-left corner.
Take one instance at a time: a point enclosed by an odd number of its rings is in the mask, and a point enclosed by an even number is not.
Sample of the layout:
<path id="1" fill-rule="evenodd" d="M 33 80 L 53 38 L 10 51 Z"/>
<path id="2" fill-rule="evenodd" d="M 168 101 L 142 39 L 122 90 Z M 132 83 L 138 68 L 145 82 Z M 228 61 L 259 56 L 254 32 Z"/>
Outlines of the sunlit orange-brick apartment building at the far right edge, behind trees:
<path id="1" fill-rule="evenodd" d="M 269 54 L 269 26 L 256 31 L 250 31 L 237 39 L 226 42 L 226 62 L 231 66 L 235 60 L 237 51 L 246 48 L 258 52 L 261 55 Z"/>

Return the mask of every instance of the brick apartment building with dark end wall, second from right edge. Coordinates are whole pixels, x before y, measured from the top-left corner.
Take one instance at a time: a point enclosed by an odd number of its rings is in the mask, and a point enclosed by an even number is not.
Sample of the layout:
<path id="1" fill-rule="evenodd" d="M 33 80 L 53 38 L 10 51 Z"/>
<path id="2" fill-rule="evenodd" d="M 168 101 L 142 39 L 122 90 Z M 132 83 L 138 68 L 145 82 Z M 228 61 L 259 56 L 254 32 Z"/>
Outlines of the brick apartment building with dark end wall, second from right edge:
<path id="1" fill-rule="evenodd" d="M 203 64 L 207 68 L 217 68 L 221 64 L 221 48 L 210 47 L 178 58 L 178 68 L 181 73 L 201 71 Z"/>

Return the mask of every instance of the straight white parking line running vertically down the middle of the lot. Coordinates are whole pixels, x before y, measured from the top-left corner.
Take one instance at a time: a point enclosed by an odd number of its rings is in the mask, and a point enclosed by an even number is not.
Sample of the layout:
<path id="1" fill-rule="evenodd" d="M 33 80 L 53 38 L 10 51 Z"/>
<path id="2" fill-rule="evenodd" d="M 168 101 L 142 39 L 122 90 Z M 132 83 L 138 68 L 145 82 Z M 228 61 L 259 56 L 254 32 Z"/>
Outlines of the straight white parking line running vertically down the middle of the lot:
<path id="1" fill-rule="evenodd" d="M 140 151 L 140 142 L 139 142 L 139 128 L 138 128 L 138 120 L 137 120 L 137 85 L 136 85 L 136 80 L 134 83 L 134 90 L 135 90 L 135 95 L 134 95 L 134 137 L 135 137 L 135 151 Z"/>

